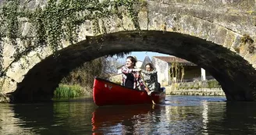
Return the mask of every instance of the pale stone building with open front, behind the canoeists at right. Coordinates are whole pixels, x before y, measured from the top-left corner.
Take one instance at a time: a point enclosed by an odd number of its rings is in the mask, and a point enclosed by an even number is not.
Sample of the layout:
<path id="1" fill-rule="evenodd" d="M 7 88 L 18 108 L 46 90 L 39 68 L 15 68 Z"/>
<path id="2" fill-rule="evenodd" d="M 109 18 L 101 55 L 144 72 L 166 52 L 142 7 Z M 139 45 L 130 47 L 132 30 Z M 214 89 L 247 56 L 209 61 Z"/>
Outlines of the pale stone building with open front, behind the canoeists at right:
<path id="1" fill-rule="evenodd" d="M 211 78 L 208 72 L 193 62 L 175 56 L 153 56 L 152 63 L 158 71 L 158 82 L 162 86 L 170 85 L 173 82 L 206 80 L 206 76 Z"/>

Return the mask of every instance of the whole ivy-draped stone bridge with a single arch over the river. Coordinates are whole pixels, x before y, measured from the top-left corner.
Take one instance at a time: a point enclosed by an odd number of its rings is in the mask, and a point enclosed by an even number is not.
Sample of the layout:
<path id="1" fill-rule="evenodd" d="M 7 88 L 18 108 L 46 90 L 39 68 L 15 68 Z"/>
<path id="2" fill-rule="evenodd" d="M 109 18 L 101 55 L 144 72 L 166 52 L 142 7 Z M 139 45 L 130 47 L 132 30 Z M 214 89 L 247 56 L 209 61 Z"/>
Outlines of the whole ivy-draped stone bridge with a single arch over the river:
<path id="1" fill-rule="evenodd" d="M 208 70 L 228 101 L 256 99 L 255 0 L 0 1 L 0 91 L 52 98 L 84 62 L 119 52 L 175 55 Z"/>

